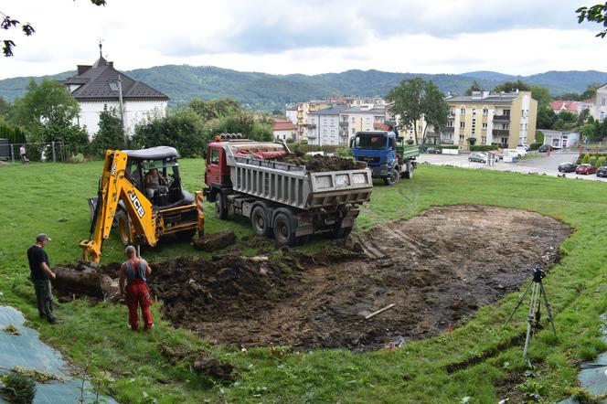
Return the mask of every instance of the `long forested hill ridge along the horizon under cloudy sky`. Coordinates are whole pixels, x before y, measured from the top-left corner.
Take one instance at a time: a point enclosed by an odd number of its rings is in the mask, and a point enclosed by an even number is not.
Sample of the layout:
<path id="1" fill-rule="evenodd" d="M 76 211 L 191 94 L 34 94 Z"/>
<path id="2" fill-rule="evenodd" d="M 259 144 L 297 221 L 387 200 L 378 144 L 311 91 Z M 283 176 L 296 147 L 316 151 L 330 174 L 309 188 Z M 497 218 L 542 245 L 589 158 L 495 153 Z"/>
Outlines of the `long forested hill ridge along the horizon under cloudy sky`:
<path id="1" fill-rule="evenodd" d="M 150 69 L 125 71 L 135 80 L 168 95 L 171 103 L 184 104 L 193 98 L 230 97 L 250 105 L 254 110 L 282 109 L 285 103 L 322 99 L 329 95 L 385 95 L 400 80 L 422 77 L 432 80 L 443 91 L 462 93 L 473 80 L 485 89 L 492 89 L 504 80 L 523 80 L 548 88 L 552 95 L 582 92 L 594 82 L 607 82 L 607 73 L 588 71 L 548 71 L 533 76 L 511 76 L 493 71 L 455 74 L 390 73 L 379 70 L 347 70 L 314 76 L 304 74 L 272 75 L 220 69 L 212 66 L 157 66 Z M 67 71 L 35 80 L 65 79 Z M 0 96 L 14 101 L 27 90 L 30 78 L 0 80 Z"/>

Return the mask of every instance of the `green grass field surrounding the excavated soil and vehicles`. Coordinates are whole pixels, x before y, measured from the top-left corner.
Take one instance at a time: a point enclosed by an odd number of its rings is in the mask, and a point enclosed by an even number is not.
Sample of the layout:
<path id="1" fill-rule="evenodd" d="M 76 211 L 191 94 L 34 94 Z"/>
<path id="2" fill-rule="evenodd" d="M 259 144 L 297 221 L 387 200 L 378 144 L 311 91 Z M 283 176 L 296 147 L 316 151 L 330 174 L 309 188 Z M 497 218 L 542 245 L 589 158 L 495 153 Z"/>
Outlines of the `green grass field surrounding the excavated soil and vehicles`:
<path id="1" fill-rule="evenodd" d="M 202 186 L 204 162 L 184 160 L 189 190 Z M 503 323 L 516 303 L 513 293 L 482 308 L 451 335 L 412 342 L 393 351 L 353 354 L 344 350 L 292 352 L 287 347 L 211 346 L 160 321 L 151 334 L 126 327 L 126 308 L 110 303 L 59 305 L 59 325 L 37 319 L 25 251 L 36 234 L 48 232 L 52 264 L 80 259 L 78 243 L 88 237 L 86 198 L 95 194 L 101 163 L 0 167 L 0 304 L 22 310 L 43 337 L 77 364 L 112 375 L 110 392 L 121 402 L 497 402 L 521 384 L 519 394 L 538 393 L 554 401 L 575 393 L 576 366 L 601 353 L 599 315 L 607 309 L 607 186 L 538 175 L 421 165 L 410 181 L 386 187 L 377 183 L 363 209 L 358 229 L 410 218 L 432 205 L 485 204 L 519 207 L 559 218 L 574 233 L 561 246 L 562 260 L 544 280 L 559 333 L 542 331 L 532 341 L 532 368 L 513 344 L 527 324 L 526 310 Z M 207 232 L 235 229 L 252 234 L 242 222 L 219 222 L 208 206 Z M 317 250 L 313 239 L 304 250 Z M 186 243 L 166 240 L 144 250 L 150 260 L 197 254 Z M 122 260 L 117 237 L 104 244 L 102 262 Z M 160 344 L 199 348 L 233 364 L 238 381 L 219 384 L 171 364 Z M 459 364 L 459 365 L 458 365 Z M 465 365 L 463 365 L 465 364 Z M 456 370 L 458 369 L 459 370 Z M 145 394 L 144 394 L 145 393 Z M 522 397 L 522 396 L 520 396 Z"/>

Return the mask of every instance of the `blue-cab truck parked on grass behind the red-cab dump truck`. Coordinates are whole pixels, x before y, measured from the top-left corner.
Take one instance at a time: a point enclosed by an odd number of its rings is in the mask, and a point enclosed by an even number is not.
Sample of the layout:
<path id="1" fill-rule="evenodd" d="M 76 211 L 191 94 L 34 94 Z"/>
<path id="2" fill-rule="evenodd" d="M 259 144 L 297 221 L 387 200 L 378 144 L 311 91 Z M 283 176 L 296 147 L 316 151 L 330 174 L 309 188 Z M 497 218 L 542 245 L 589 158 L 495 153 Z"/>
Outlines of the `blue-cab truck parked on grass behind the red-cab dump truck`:
<path id="1" fill-rule="evenodd" d="M 394 186 L 401 176 L 412 178 L 420 155 L 420 147 L 407 144 L 392 131 L 357 132 L 351 141 L 356 161 L 367 163 L 374 178 L 382 178 Z"/>

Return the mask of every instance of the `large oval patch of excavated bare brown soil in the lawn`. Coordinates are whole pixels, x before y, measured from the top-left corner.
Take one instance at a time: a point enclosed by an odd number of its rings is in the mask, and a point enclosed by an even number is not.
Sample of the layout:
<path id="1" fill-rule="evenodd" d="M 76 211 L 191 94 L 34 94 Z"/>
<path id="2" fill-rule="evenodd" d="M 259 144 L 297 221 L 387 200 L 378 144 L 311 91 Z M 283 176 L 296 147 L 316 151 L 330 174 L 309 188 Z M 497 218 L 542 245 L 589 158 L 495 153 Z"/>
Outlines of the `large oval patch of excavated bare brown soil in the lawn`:
<path id="1" fill-rule="evenodd" d="M 367 350 L 458 326 L 548 269 L 569 235 L 523 210 L 432 207 L 314 256 L 156 262 L 149 283 L 168 319 L 213 342 Z"/>

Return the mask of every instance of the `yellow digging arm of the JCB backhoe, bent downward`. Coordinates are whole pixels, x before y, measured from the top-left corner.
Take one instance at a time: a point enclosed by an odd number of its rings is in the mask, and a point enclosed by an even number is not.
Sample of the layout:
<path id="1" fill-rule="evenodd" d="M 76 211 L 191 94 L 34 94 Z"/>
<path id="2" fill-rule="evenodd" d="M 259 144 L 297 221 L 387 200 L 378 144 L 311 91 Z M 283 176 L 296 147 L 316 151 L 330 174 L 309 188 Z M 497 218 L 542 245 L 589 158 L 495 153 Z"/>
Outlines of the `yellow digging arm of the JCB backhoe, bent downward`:
<path id="1" fill-rule="evenodd" d="M 101 260 L 103 239 L 110 237 L 112 221 L 121 199 L 138 234 L 144 235 L 149 245 L 156 244 L 162 220 L 147 197 L 133 186 L 125 174 L 126 160 L 127 155 L 119 150 L 108 150 L 105 154 L 99 199 L 91 221 L 91 235 L 89 239 L 80 241 L 83 260 Z"/>

